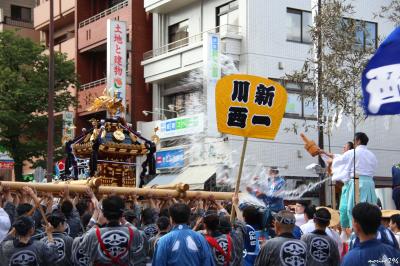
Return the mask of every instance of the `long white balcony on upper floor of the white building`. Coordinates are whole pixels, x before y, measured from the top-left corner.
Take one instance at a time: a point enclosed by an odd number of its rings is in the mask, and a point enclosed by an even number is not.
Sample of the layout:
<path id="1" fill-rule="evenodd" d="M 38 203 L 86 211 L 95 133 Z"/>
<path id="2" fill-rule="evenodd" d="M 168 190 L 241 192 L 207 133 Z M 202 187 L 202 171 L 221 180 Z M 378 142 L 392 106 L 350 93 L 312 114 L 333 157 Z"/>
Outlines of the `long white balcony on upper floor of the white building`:
<path id="1" fill-rule="evenodd" d="M 146 83 L 178 75 L 203 65 L 203 35 L 219 33 L 221 52 L 233 61 L 239 61 L 241 51 L 241 28 L 222 25 L 188 38 L 169 43 L 143 54 L 142 65 Z"/>

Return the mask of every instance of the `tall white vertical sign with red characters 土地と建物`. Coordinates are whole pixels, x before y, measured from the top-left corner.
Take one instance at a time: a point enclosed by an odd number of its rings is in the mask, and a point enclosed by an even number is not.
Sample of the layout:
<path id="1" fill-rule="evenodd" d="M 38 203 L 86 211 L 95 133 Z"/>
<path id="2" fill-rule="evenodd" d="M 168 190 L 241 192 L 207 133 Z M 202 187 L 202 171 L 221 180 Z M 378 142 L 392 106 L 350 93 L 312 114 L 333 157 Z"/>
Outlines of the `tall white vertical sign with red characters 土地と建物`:
<path id="1" fill-rule="evenodd" d="M 122 100 L 126 110 L 125 21 L 107 20 L 107 89 L 110 96 Z"/>

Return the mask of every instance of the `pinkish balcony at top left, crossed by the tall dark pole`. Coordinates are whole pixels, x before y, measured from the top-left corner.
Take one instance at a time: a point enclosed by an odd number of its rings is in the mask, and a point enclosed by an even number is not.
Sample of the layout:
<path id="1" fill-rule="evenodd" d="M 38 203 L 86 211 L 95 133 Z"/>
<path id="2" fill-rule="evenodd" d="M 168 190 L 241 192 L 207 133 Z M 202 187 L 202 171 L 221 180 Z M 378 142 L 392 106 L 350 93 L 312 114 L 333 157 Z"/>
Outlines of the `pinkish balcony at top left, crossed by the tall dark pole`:
<path id="1" fill-rule="evenodd" d="M 54 28 L 74 23 L 75 0 L 54 0 Z M 46 30 L 50 21 L 50 2 L 42 0 L 33 10 L 35 30 Z"/>

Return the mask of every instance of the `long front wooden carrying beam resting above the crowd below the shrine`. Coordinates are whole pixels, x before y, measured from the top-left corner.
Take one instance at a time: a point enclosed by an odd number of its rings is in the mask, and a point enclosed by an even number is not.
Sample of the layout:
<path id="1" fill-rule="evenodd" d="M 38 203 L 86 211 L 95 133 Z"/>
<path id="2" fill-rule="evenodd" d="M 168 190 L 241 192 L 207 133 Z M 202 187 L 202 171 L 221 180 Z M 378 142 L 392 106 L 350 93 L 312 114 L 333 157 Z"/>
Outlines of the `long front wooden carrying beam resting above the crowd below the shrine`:
<path id="1" fill-rule="evenodd" d="M 19 190 L 24 186 L 31 187 L 41 192 L 62 192 L 65 187 L 68 187 L 70 192 L 85 193 L 87 185 L 75 185 L 75 184 L 54 184 L 54 183 L 25 183 L 25 182 L 11 182 L 1 181 L 0 185 L 9 186 L 11 190 Z M 155 198 L 163 197 L 174 197 L 174 198 L 200 198 L 208 199 L 213 197 L 215 200 L 231 200 L 232 192 L 215 192 L 215 191 L 186 191 L 178 192 L 170 189 L 154 189 L 154 188 L 134 188 L 134 187 L 111 187 L 111 186 L 99 186 L 95 188 L 99 194 L 119 194 L 129 195 L 136 194 L 138 196 L 146 197 L 152 195 Z"/>

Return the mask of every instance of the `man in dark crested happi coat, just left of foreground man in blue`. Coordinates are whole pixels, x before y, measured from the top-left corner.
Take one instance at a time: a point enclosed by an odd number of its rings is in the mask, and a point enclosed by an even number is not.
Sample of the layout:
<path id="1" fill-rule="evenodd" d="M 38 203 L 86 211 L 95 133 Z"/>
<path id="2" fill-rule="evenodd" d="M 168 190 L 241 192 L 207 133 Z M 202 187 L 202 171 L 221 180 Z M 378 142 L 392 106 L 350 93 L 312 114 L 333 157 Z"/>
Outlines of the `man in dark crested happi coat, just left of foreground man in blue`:
<path id="1" fill-rule="evenodd" d="M 339 265 L 337 244 L 325 232 L 330 223 L 331 214 L 327 209 L 319 208 L 313 220 L 315 230 L 301 237 L 301 240 L 307 244 L 307 265 Z"/>

